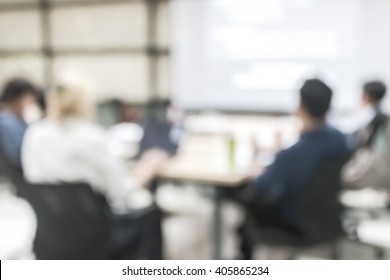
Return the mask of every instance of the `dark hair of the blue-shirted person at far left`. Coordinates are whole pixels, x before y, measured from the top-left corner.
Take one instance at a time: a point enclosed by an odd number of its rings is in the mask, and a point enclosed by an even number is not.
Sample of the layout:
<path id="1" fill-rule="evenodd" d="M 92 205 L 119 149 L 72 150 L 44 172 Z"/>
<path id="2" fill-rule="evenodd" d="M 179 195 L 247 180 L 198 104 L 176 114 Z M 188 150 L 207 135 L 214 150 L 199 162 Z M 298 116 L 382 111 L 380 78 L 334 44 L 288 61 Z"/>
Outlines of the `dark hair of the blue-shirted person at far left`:
<path id="1" fill-rule="evenodd" d="M 2 102 L 13 102 L 20 99 L 25 94 L 36 95 L 35 86 L 28 80 L 23 78 L 15 78 L 9 80 L 2 91 L 1 101 Z"/>

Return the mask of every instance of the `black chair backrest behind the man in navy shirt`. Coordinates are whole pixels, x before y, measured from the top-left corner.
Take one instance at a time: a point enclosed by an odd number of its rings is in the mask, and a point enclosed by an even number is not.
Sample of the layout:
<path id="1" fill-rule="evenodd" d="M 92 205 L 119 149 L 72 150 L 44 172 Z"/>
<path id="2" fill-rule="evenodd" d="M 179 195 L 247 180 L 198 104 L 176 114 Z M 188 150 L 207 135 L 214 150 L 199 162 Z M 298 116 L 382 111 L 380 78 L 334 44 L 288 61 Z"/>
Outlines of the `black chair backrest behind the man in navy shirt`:
<path id="1" fill-rule="evenodd" d="M 327 161 L 294 199 L 303 236 L 313 242 L 332 242 L 342 233 L 341 170 L 348 157 Z"/>

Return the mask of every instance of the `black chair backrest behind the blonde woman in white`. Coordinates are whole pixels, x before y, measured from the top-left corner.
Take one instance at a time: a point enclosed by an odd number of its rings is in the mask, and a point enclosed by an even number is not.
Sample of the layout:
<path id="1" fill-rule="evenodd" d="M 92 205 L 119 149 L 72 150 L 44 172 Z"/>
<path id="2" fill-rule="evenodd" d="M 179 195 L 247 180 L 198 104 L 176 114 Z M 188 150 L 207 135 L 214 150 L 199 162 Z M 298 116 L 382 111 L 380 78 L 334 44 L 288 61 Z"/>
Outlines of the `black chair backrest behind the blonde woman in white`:
<path id="1" fill-rule="evenodd" d="M 31 204 L 37 216 L 34 252 L 38 259 L 107 258 L 110 224 L 102 196 L 82 183 L 29 184 L 4 158 L 2 165 L 17 195 Z"/>

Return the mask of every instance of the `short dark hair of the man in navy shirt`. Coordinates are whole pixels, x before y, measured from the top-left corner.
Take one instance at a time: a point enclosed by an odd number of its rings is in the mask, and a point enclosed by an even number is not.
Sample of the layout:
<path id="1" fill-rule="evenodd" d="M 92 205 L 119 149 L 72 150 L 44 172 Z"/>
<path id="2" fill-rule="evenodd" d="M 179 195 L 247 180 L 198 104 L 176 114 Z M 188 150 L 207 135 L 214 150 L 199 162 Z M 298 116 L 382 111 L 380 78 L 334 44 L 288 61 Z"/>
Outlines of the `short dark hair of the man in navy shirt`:
<path id="1" fill-rule="evenodd" d="M 319 79 L 306 80 L 300 90 L 301 104 L 315 119 L 323 119 L 330 108 L 332 90 Z"/>

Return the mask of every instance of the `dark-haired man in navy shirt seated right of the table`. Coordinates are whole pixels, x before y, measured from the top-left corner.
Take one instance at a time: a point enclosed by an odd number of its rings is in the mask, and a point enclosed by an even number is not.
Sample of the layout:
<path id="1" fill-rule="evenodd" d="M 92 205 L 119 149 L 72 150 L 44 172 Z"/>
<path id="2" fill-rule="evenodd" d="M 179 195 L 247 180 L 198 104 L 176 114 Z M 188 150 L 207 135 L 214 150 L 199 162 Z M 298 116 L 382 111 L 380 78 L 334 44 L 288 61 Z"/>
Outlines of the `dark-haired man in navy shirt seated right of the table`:
<path id="1" fill-rule="evenodd" d="M 299 227 L 292 203 L 295 195 L 323 164 L 349 154 L 345 137 L 325 121 L 331 99 L 332 90 L 321 80 L 307 80 L 301 87 L 296 110 L 302 122 L 299 140 L 280 151 L 244 192 L 250 198 L 246 199 L 250 205 L 248 216 L 254 217 L 260 229 L 262 226 L 286 230 Z M 245 238 L 247 226 L 248 220 L 241 229 L 242 253 L 250 259 L 254 244 Z"/>

